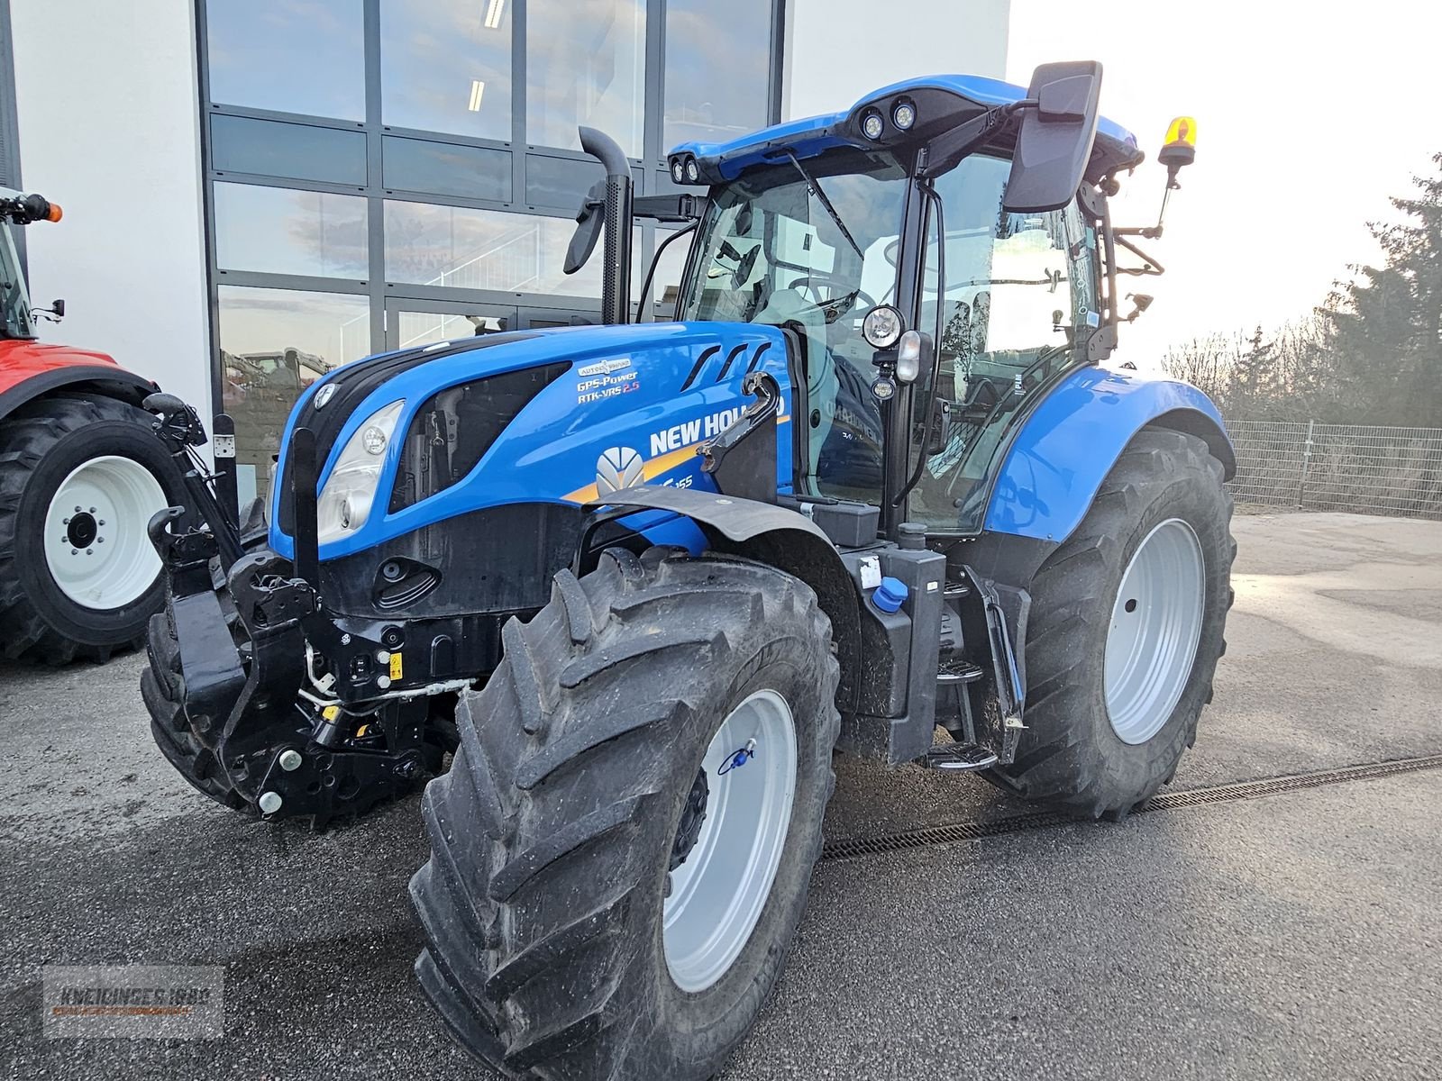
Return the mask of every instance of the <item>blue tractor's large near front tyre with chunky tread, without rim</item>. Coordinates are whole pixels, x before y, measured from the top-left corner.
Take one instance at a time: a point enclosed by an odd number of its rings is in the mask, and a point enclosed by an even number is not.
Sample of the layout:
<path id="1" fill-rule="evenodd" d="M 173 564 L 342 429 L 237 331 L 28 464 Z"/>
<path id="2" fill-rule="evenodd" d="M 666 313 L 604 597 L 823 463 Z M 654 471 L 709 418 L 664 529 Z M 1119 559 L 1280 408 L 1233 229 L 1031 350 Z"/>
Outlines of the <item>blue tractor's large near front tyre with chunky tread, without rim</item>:
<path id="1" fill-rule="evenodd" d="M 711 1077 L 780 974 L 820 855 L 841 726 L 831 623 L 770 566 L 611 549 L 580 582 L 558 574 L 551 602 L 503 634 L 421 804 L 421 986 L 509 1077 Z M 741 954 L 685 993 L 662 947 L 669 856 L 711 734 L 758 688 L 796 725 L 786 848 Z"/>

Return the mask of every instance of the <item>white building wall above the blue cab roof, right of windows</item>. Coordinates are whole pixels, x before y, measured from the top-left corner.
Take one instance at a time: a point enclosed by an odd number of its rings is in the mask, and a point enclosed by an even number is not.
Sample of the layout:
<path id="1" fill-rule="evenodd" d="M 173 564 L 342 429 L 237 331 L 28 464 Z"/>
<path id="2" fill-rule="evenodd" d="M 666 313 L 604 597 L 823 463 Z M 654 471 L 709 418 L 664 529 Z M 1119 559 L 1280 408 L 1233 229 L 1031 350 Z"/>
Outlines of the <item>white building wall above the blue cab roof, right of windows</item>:
<path id="1" fill-rule="evenodd" d="M 916 75 L 1007 74 L 1011 0 L 787 0 L 782 118 Z"/>

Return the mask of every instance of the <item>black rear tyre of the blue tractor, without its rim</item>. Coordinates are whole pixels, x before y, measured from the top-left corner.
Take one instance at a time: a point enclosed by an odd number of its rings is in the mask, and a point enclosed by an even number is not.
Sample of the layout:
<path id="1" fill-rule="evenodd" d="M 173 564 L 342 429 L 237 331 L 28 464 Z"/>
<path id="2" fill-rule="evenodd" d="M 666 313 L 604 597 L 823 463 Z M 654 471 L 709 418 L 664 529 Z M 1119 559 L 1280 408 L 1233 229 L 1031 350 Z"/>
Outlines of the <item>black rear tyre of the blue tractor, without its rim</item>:
<path id="1" fill-rule="evenodd" d="M 1207 444 L 1144 428 L 1102 483 L 1082 525 L 1043 564 L 1027 623 L 1025 731 L 1011 765 L 986 778 L 1082 819 L 1119 819 L 1169 784 L 1197 739 L 1226 653 L 1231 607 L 1231 494 Z M 1185 520 L 1206 562 L 1201 637 L 1171 716 L 1144 744 L 1123 742 L 1106 711 L 1103 657 L 1112 605 L 1132 553 L 1161 522 Z"/>

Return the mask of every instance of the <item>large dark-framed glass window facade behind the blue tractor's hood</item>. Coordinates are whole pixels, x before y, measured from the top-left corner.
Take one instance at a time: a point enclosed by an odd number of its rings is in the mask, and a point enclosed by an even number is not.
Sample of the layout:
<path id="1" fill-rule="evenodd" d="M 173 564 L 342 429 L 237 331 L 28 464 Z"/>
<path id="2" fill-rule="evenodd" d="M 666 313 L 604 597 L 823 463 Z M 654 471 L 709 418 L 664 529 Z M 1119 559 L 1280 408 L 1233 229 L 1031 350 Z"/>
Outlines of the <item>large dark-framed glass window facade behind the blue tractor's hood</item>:
<path id="1" fill-rule="evenodd" d="M 402 340 L 570 326 L 561 267 L 601 176 L 577 127 L 673 190 L 666 150 L 779 115 L 784 0 L 198 0 L 218 408 L 264 491 L 301 388 Z M 634 231 L 633 300 L 652 225 Z M 686 242 L 652 293 L 669 317 Z M 238 412 L 236 412 L 238 411 Z"/>

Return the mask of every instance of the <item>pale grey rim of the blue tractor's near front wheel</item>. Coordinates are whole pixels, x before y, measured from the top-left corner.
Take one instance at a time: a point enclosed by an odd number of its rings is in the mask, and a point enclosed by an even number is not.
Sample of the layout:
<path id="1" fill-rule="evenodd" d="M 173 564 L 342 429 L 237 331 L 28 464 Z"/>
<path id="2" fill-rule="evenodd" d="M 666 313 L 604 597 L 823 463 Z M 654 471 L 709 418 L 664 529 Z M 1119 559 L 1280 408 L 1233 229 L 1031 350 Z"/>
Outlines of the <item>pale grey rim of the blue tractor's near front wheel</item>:
<path id="1" fill-rule="evenodd" d="M 720 770 L 756 741 L 756 755 Z M 727 715 L 701 768 L 709 794 L 701 833 L 671 872 L 663 941 L 671 979 L 685 992 L 720 980 L 751 938 L 771 895 L 796 796 L 796 725 L 774 690 L 757 690 Z"/>

